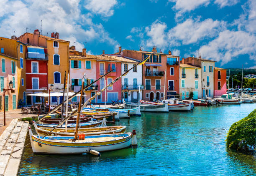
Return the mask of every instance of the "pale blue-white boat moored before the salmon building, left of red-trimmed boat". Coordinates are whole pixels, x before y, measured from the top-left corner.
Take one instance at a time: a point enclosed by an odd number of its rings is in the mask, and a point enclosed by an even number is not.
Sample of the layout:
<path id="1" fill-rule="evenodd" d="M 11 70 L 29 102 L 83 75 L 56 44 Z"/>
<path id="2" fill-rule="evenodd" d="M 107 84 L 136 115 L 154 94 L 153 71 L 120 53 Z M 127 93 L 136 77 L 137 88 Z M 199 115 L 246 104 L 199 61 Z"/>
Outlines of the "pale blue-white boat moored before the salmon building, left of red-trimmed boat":
<path id="1" fill-rule="evenodd" d="M 123 103 L 125 109 L 131 109 L 140 107 L 140 111 L 145 112 L 169 112 L 167 104 L 157 104 L 157 105 L 150 105 L 150 104 L 139 104 L 139 103 L 131 103 L 124 101 Z"/>

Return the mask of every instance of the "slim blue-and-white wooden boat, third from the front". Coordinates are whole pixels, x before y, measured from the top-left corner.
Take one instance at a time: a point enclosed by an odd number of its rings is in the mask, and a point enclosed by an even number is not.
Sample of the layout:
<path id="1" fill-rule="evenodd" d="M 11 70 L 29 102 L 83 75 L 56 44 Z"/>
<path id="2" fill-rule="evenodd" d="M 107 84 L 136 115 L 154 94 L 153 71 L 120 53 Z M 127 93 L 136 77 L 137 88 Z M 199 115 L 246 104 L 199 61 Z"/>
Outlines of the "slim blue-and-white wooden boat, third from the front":
<path id="1" fill-rule="evenodd" d="M 55 127 L 57 124 L 37 124 L 38 127 Z M 106 121 L 90 121 L 87 123 L 79 123 L 80 128 L 90 128 L 90 127 L 97 127 L 97 126 L 106 126 Z M 67 128 L 75 128 L 76 123 L 69 123 L 67 124 Z M 65 128 L 65 124 L 59 126 L 58 128 Z"/>

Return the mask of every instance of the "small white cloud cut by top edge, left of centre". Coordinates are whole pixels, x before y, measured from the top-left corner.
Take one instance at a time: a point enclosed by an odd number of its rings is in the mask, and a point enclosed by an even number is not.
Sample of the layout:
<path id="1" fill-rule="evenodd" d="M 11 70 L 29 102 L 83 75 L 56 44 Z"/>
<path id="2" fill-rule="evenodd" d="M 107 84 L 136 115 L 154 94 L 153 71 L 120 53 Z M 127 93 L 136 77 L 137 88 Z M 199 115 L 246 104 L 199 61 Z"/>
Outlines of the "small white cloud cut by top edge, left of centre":
<path id="1" fill-rule="evenodd" d="M 117 0 L 87 0 L 84 7 L 92 13 L 110 17 L 114 14 L 112 9 L 118 2 Z"/>

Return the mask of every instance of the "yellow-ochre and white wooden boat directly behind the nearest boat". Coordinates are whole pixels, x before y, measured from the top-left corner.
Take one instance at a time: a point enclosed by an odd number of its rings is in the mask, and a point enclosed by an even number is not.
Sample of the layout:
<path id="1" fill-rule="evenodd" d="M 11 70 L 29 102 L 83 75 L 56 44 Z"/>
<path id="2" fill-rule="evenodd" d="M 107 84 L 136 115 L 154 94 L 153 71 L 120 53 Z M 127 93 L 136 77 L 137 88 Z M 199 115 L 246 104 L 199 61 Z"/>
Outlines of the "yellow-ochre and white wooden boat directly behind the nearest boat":
<path id="1" fill-rule="evenodd" d="M 33 126 L 35 127 L 36 133 L 38 135 L 47 136 L 74 136 L 75 128 L 69 128 L 67 131 L 63 128 L 57 128 L 51 131 L 53 128 L 38 127 L 36 122 L 33 121 Z M 51 133 L 49 133 L 51 131 Z M 92 135 L 102 135 L 102 134 L 115 134 L 124 133 L 126 131 L 126 126 L 105 126 L 105 127 L 94 127 L 94 128 L 79 128 L 78 133 L 84 133 L 85 136 Z"/>

